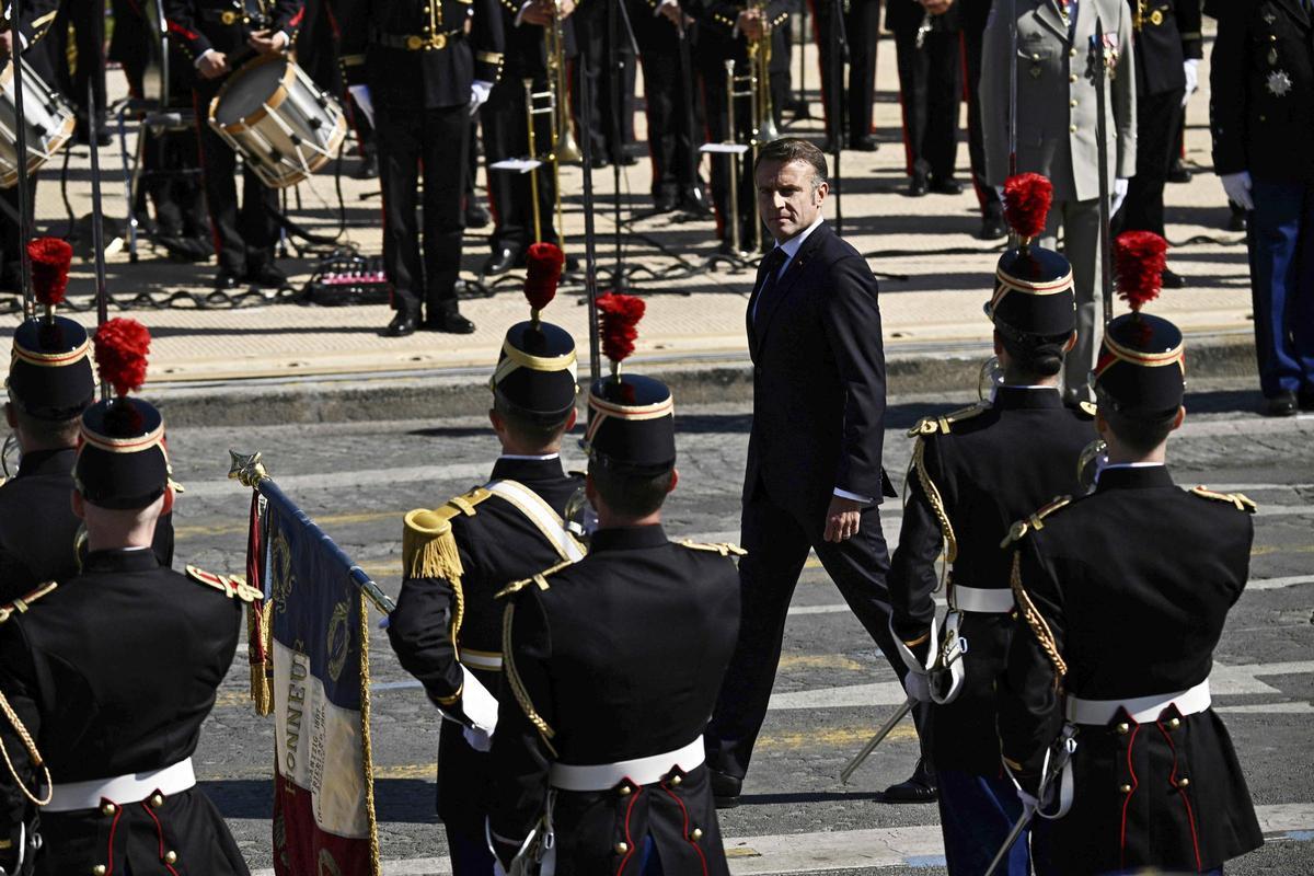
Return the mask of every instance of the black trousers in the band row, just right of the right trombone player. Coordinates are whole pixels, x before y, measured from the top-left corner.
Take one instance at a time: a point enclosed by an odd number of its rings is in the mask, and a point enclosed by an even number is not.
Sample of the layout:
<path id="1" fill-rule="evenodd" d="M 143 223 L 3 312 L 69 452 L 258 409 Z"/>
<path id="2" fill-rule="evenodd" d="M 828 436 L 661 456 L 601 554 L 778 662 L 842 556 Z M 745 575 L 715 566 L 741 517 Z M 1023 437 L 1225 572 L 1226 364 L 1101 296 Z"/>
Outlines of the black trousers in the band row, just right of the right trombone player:
<path id="1" fill-rule="evenodd" d="M 830 74 L 834 62 L 830 46 L 830 14 L 836 0 L 808 0 L 812 11 L 812 30 L 821 54 L 821 108 L 825 130 L 834 137 L 830 118 L 834 95 L 830 92 Z M 842 121 L 840 134 L 851 138 L 875 133 L 871 126 L 872 105 L 876 100 L 876 42 L 880 39 L 880 0 L 853 0 L 844 16 L 844 35 L 849 46 L 849 87 L 840 100 Z"/>

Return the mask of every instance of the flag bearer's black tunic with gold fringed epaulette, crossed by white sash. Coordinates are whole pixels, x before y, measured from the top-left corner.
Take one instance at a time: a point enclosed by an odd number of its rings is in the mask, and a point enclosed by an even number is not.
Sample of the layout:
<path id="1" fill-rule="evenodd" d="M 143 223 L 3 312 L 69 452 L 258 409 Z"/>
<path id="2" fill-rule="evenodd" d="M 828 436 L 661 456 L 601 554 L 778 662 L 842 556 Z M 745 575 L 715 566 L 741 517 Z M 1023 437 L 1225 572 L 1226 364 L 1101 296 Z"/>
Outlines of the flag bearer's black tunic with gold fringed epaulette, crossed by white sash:
<path id="1" fill-rule="evenodd" d="M 583 485 L 561 460 L 498 460 L 493 479 L 528 487 L 558 515 Z M 501 687 L 502 604 L 494 594 L 512 580 L 560 562 L 557 550 L 515 506 L 486 490 L 461 496 L 451 508 L 452 538 L 460 557 L 461 626 L 452 641 L 456 591 L 444 578 L 409 577 L 388 617 L 388 638 L 402 667 L 444 708 L 461 690 L 461 665 L 490 692 Z M 464 508 L 469 508 L 466 514 Z M 491 776 L 489 755 L 472 749 L 461 728 L 444 721 L 438 754 L 438 814 L 449 830 L 482 837 Z"/>

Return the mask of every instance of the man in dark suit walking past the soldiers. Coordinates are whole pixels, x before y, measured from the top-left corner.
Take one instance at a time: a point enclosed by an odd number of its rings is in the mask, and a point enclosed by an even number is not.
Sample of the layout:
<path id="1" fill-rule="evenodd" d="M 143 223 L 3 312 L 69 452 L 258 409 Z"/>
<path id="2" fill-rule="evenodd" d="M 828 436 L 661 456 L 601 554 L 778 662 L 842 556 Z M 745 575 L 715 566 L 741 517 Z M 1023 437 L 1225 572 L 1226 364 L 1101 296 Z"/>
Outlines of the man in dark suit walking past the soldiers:
<path id="1" fill-rule="evenodd" d="M 825 156 L 784 138 L 758 156 L 758 211 L 777 240 L 748 303 L 753 431 L 744 477 L 742 617 L 707 732 L 720 805 L 735 805 L 766 717 L 790 598 L 809 550 L 901 676 L 878 506 L 886 362 L 876 281 L 821 218 Z M 933 780 L 915 799 L 934 800 Z M 905 788 L 907 791 L 907 788 Z M 897 792 L 896 792 L 897 793 Z"/>

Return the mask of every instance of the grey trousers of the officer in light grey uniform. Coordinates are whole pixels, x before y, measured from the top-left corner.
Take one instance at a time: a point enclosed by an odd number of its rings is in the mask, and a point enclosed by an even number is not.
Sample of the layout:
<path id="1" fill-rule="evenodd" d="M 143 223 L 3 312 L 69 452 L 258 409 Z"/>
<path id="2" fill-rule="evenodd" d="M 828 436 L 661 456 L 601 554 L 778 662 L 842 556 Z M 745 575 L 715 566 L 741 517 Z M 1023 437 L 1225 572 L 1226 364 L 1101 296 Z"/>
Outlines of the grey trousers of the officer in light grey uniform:
<path id="1" fill-rule="evenodd" d="M 1041 246 L 1058 247 L 1063 226 L 1063 252 L 1072 264 L 1076 293 L 1076 345 L 1063 360 L 1063 395 L 1068 401 L 1095 401 L 1088 385 L 1104 339 L 1104 303 L 1100 271 L 1100 200 L 1054 201 Z"/>

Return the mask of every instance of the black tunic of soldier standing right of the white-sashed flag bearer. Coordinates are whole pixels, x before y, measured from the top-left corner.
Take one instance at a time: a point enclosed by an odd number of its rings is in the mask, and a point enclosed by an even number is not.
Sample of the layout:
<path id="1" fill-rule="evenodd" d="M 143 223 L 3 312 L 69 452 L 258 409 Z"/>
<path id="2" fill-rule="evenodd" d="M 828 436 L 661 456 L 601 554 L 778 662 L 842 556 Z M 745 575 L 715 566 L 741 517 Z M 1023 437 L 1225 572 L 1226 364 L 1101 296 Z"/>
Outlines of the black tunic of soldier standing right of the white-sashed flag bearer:
<path id="1" fill-rule="evenodd" d="M 611 764 L 699 741 L 738 628 L 731 553 L 670 542 L 660 525 L 599 529 L 583 561 L 510 596 L 490 818 L 503 864 L 539 821 L 555 762 Z M 668 873 L 728 872 L 702 764 L 555 797 L 560 876 L 637 873 L 646 837 Z"/>

